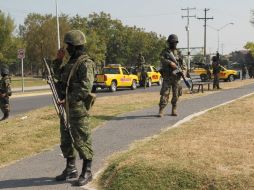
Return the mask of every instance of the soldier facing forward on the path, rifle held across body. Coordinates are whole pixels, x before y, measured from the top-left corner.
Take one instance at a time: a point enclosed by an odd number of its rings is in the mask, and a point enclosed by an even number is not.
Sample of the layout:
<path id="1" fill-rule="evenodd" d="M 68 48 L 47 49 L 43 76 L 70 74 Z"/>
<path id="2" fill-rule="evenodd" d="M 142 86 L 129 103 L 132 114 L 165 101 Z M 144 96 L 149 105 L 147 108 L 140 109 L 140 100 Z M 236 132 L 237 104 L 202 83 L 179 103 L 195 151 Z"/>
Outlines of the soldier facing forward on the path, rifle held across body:
<path id="1" fill-rule="evenodd" d="M 159 103 L 159 117 L 163 117 L 163 110 L 168 104 L 170 89 L 172 88 L 172 116 L 177 116 L 176 106 L 179 98 L 180 78 L 179 74 L 175 74 L 174 71 L 180 66 L 185 69 L 184 62 L 179 62 L 179 55 L 177 51 L 178 37 L 175 34 L 169 35 L 167 39 L 168 47 L 161 53 L 161 71 L 163 73 L 163 83 L 160 91 L 160 103 Z"/>

